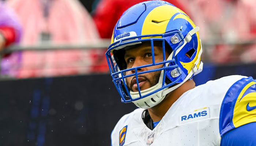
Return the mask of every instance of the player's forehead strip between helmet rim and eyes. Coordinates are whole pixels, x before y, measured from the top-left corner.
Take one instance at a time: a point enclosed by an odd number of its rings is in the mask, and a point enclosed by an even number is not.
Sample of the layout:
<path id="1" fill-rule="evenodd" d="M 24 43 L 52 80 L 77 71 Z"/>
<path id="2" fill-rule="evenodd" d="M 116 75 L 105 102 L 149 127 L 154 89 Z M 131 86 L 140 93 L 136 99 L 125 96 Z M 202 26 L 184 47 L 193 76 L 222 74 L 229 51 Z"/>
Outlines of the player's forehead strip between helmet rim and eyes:
<path id="1" fill-rule="evenodd" d="M 162 52 L 162 43 L 159 42 L 154 42 L 154 51 L 157 52 Z M 124 57 L 130 56 L 130 55 L 136 55 L 140 53 L 146 53 L 146 52 L 151 52 L 152 47 L 150 42 L 143 42 L 139 45 L 134 45 L 134 46 L 128 46 L 125 49 Z"/>

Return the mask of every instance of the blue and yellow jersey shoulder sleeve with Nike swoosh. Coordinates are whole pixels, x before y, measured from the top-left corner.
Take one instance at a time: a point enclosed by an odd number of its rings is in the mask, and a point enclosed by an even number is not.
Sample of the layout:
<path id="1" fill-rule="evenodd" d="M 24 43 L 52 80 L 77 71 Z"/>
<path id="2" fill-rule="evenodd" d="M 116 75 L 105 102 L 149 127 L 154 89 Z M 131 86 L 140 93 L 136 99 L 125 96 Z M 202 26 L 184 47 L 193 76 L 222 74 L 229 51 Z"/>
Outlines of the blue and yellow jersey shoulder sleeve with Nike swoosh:
<path id="1" fill-rule="evenodd" d="M 256 122 L 256 82 L 252 77 L 242 78 L 229 88 L 222 101 L 220 135 L 222 137 L 231 130 L 239 131 L 235 130 L 238 127 L 244 130 L 243 125 L 253 122 Z M 234 132 L 228 133 L 227 135 L 231 135 Z"/>

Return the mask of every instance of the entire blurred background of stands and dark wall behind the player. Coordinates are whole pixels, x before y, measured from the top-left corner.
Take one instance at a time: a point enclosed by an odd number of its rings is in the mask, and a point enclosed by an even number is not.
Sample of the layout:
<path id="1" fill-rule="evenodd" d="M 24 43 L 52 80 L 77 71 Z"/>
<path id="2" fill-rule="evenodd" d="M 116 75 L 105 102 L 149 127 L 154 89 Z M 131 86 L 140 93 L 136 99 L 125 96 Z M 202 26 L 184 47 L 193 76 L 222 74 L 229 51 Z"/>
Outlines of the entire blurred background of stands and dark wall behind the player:
<path id="1" fill-rule="evenodd" d="M 0 0 L 0 145 L 102 146 L 133 111 L 105 51 L 123 12 L 143 0 Z M 166 0 L 200 27 L 196 85 L 256 77 L 255 0 Z"/>

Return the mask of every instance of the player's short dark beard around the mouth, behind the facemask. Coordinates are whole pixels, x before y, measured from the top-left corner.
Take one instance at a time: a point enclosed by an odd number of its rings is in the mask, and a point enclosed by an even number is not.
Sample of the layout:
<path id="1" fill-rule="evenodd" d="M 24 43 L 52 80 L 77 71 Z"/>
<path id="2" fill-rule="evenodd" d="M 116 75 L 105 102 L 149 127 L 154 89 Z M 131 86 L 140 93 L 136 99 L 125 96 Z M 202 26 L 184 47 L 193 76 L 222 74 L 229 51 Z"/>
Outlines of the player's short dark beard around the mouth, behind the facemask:
<path id="1" fill-rule="evenodd" d="M 157 71 L 157 72 L 152 72 L 152 74 L 150 74 L 150 78 L 148 76 L 143 76 L 143 75 L 138 75 L 138 77 L 143 77 L 143 78 L 146 78 L 146 80 L 149 82 L 150 84 L 150 87 L 153 87 L 154 85 L 156 85 L 158 82 L 159 82 L 159 78 L 160 78 L 160 74 L 161 74 L 161 70 Z M 136 78 L 135 76 L 133 76 L 132 80 Z M 132 89 L 132 80 L 130 82 L 130 85 L 128 87 L 128 90 L 131 91 Z M 140 87 L 138 87 L 140 88 Z M 136 92 L 136 91 L 133 91 L 133 92 Z"/>

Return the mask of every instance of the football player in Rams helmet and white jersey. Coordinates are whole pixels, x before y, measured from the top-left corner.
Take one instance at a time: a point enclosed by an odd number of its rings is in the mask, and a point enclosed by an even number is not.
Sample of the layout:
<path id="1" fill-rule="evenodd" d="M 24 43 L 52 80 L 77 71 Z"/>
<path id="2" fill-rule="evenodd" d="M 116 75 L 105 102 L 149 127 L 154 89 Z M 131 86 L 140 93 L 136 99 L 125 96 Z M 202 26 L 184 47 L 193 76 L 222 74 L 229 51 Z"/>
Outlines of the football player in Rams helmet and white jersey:
<path id="1" fill-rule="evenodd" d="M 256 146 L 256 82 L 227 76 L 195 87 L 202 45 L 187 14 L 161 0 L 127 9 L 106 52 L 124 115 L 112 146 Z M 213 54 L 214 55 L 214 54 Z"/>

